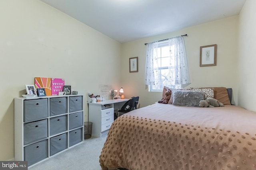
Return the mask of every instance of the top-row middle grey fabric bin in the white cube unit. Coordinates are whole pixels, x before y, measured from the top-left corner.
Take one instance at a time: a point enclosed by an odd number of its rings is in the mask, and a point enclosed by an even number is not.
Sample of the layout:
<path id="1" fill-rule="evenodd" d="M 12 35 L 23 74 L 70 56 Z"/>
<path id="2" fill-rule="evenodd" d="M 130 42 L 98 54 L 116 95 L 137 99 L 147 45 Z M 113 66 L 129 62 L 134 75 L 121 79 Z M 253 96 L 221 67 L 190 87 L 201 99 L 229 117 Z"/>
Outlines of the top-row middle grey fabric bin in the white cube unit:
<path id="1" fill-rule="evenodd" d="M 68 113 L 67 97 L 50 98 L 50 116 Z"/>

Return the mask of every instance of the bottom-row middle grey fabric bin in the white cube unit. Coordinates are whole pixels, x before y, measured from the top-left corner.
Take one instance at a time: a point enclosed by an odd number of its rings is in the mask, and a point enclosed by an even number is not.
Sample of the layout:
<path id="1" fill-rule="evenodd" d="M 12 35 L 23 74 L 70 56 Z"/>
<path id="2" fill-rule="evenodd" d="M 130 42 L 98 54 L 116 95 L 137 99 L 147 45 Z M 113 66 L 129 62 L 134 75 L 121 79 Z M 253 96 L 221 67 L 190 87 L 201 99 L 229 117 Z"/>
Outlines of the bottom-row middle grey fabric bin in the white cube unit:
<path id="1" fill-rule="evenodd" d="M 58 135 L 50 139 L 50 156 L 68 148 L 67 134 Z"/>

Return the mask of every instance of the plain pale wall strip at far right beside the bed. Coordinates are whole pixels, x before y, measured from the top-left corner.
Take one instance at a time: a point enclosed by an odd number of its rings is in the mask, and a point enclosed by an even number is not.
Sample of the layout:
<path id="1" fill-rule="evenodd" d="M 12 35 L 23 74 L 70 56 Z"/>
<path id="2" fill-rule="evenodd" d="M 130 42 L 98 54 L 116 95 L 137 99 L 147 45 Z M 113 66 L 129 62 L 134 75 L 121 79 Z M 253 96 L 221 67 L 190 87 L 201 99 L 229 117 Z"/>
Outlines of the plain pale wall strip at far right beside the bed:
<path id="1" fill-rule="evenodd" d="M 246 0 L 239 15 L 238 105 L 256 111 L 256 1 Z"/>

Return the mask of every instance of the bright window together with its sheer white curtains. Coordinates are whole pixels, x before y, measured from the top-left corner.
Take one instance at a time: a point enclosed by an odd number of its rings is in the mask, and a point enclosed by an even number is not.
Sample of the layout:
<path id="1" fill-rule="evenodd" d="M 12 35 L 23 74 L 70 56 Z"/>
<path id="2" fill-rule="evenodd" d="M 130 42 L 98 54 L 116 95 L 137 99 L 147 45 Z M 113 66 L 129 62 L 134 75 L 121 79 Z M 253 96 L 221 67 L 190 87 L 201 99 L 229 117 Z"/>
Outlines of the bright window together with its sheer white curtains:
<path id="1" fill-rule="evenodd" d="M 182 36 L 148 43 L 145 84 L 149 86 L 149 91 L 162 91 L 164 86 L 181 88 L 181 85 L 190 84 Z"/>

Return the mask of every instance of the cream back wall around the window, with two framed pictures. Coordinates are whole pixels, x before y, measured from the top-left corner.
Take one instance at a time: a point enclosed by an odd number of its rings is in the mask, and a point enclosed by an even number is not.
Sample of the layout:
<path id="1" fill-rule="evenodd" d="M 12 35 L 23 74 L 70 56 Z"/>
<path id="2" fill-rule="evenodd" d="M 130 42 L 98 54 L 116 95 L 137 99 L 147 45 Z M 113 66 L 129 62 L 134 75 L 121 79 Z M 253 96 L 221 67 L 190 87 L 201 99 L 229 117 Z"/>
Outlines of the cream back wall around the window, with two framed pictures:
<path id="1" fill-rule="evenodd" d="M 233 88 L 233 104 L 237 104 L 238 16 L 122 44 L 121 85 L 126 96 L 140 96 L 140 107 L 161 99 L 161 92 L 148 92 L 144 84 L 146 59 L 144 43 L 184 34 L 188 34 L 188 37 L 184 37 L 184 41 L 191 80 L 191 84 L 184 88 L 220 86 Z M 200 46 L 212 44 L 217 44 L 217 65 L 200 67 Z M 130 57 L 138 57 L 138 72 L 129 72 Z"/>

